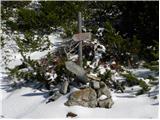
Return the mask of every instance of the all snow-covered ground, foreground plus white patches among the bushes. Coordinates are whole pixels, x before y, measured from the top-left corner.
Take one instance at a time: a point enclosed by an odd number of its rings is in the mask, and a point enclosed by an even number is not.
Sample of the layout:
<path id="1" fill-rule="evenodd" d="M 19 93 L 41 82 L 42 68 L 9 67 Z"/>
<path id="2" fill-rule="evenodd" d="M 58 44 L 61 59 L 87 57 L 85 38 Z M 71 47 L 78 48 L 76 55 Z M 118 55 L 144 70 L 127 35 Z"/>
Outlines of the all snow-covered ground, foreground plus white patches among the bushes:
<path id="1" fill-rule="evenodd" d="M 50 40 L 59 41 L 55 35 Z M 2 52 L 0 50 L 0 52 Z M 46 52 L 31 54 L 35 59 L 42 57 Z M 14 55 L 17 55 L 15 53 Z M 19 63 L 20 57 L 16 57 L 10 66 Z M 2 59 L 0 59 L 2 62 Z M 1 66 L 2 68 L 3 66 Z M 136 75 L 146 74 L 147 69 L 132 70 Z M 140 74 L 141 73 L 141 74 Z M 138 86 L 126 88 L 124 93 L 112 91 L 114 105 L 111 109 L 86 108 L 81 106 L 67 107 L 67 95 L 60 97 L 55 102 L 46 104 L 46 92 L 35 90 L 30 87 L 22 87 L 13 91 L 7 91 L 9 81 L 6 79 L 5 70 L 0 71 L 0 94 L 1 94 L 1 118 L 65 118 L 68 112 L 76 113 L 77 118 L 158 118 L 159 85 L 152 87 L 148 94 L 135 96 Z"/>

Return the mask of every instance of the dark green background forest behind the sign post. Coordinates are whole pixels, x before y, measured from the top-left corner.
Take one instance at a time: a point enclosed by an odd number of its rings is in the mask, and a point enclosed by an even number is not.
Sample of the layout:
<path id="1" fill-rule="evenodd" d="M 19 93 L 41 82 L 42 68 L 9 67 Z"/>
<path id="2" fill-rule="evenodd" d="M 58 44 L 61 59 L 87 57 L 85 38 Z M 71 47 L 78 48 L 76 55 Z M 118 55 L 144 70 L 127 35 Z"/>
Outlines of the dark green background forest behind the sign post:
<path id="1" fill-rule="evenodd" d="M 111 52 L 115 49 L 116 58 L 120 61 L 125 61 L 126 57 L 122 57 L 121 53 L 126 52 L 147 62 L 158 59 L 158 1 L 41 1 L 27 9 L 29 4 L 29 1 L 2 1 L 2 24 L 11 31 L 32 36 L 61 29 L 66 33 L 65 37 L 69 37 L 77 33 L 77 13 L 81 11 L 85 31 L 91 31 L 93 38 L 105 46 L 109 45 Z M 104 28 L 101 36 L 97 36 L 98 28 Z"/>

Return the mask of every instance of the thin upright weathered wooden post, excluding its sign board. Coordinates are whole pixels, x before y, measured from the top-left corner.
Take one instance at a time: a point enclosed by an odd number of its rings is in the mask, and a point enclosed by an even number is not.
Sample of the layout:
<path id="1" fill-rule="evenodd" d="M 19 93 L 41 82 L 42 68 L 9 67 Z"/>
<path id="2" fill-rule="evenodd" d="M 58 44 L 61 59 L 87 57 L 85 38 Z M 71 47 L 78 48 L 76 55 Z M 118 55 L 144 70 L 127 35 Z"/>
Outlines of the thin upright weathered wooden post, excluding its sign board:
<path id="1" fill-rule="evenodd" d="M 81 12 L 78 12 L 78 32 L 82 32 L 82 17 Z M 82 41 L 79 43 L 79 64 L 83 67 L 83 60 L 82 60 Z"/>

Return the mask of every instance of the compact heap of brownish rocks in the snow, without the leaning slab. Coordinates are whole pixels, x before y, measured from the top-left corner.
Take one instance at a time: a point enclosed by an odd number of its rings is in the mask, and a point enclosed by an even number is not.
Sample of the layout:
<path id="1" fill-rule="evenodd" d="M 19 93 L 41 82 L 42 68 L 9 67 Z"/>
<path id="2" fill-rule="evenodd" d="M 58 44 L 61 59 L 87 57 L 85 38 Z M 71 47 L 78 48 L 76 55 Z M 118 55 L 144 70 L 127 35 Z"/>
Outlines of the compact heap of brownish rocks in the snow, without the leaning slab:
<path id="1" fill-rule="evenodd" d="M 106 96 L 106 98 L 99 99 L 102 95 Z M 71 93 L 65 103 L 67 106 L 80 105 L 91 108 L 111 108 L 113 104 L 110 90 L 102 81 L 92 81 L 90 87 Z"/>

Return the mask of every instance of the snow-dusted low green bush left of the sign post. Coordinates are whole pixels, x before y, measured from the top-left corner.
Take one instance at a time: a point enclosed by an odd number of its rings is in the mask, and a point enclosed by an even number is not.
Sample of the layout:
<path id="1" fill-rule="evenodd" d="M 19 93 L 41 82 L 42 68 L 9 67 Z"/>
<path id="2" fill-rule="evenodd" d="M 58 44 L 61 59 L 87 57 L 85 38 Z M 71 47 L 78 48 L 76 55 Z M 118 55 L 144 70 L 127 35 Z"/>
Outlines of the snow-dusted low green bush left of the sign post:
<path id="1" fill-rule="evenodd" d="M 22 53 L 21 53 L 22 54 Z M 38 60 L 31 60 L 30 57 L 23 55 L 23 64 L 13 69 L 8 68 L 10 77 L 16 80 L 41 83 L 46 89 L 50 89 L 50 78 L 46 75 L 48 66 Z M 18 83 L 17 81 L 17 83 Z"/>

